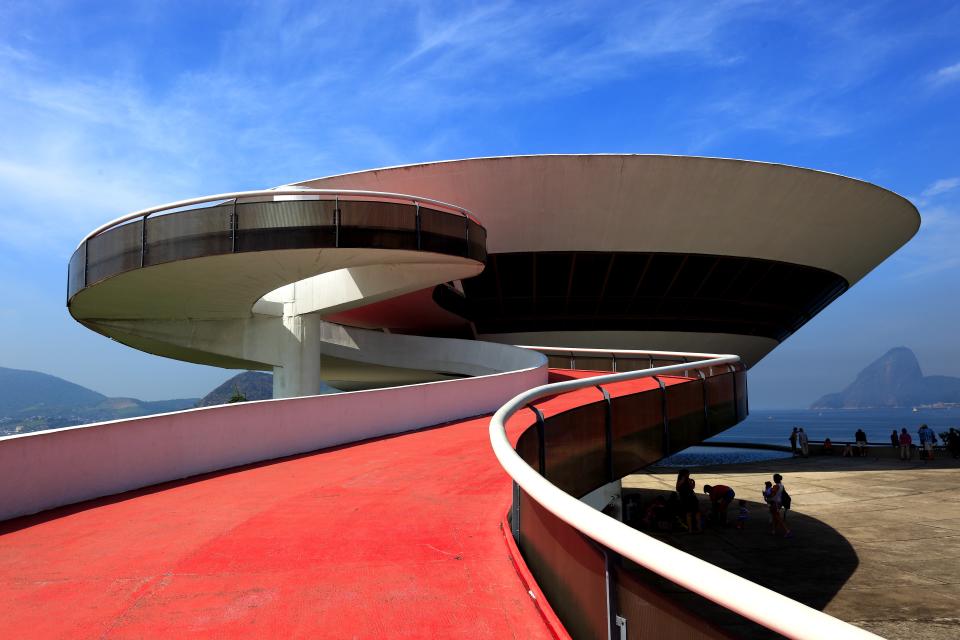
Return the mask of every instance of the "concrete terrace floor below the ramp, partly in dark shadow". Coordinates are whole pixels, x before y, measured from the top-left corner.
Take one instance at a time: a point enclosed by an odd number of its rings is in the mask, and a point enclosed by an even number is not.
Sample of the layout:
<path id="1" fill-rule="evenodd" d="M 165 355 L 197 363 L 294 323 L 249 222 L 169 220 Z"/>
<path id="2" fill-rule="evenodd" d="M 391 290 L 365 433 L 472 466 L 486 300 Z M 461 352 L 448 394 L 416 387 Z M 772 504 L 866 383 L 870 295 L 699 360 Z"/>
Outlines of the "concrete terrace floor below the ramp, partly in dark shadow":
<path id="1" fill-rule="evenodd" d="M 793 498 L 792 539 L 768 533 L 760 491 L 773 473 Z M 726 484 L 747 500 L 746 528 L 656 537 L 891 640 L 960 638 L 960 461 L 794 458 L 691 468 L 691 477 L 698 491 Z M 624 493 L 641 493 L 645 505 L 675 479 L 676 469 L 655 468 L 627 477 Z M 723 617 L 712 603 L 694 606 Z M 737 637 L 771 637 L 727 622 Z"/>

